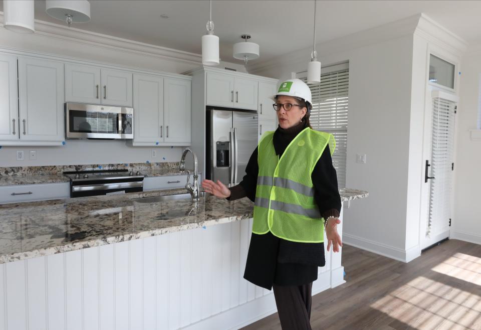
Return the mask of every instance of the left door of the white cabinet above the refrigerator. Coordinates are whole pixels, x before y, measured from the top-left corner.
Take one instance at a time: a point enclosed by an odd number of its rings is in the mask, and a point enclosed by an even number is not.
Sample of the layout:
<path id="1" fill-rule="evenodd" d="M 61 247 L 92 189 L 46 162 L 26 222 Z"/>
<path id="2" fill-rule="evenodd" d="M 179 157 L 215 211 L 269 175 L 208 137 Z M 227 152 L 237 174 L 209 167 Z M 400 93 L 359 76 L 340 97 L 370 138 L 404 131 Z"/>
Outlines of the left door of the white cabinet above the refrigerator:
<path id="1" fill-rule="evenodd" d="M 234 77 L 207 72 L 207 105 L 234 105 Z"/>

